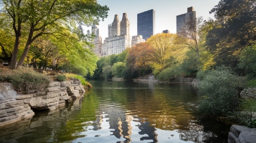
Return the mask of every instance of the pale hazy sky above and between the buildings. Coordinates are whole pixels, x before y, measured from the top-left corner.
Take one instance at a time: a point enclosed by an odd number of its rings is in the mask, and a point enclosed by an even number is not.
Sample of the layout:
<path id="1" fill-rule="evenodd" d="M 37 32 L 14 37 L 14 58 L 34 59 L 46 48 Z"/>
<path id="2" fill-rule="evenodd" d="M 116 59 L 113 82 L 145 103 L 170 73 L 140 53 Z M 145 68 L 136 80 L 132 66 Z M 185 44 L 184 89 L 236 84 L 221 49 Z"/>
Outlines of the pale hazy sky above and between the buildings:
<path id="1" fill-rule="evenodd" d="M 186 13 L 186 8 L 193 6 L 196 17 L 203 19 L 214 16 L 209 11 L 218 5 L 220 0 L 97 0 L 100 5 L 109 7 L 109 16 L 99 22 L 99 33 L 105 39 L 108 36 L 108 25 L 114 21 L 114 15 L 118 14 L 122 20 L 123 13 L 127 13 L 130 21 L 131 36 L 137 35 L 137 14 L 147 10 L 155 10 L 155 34 L 162 30 L 176 32 L 176 16 Z M 88 28 L 91 30 L 91 28 Z"/>

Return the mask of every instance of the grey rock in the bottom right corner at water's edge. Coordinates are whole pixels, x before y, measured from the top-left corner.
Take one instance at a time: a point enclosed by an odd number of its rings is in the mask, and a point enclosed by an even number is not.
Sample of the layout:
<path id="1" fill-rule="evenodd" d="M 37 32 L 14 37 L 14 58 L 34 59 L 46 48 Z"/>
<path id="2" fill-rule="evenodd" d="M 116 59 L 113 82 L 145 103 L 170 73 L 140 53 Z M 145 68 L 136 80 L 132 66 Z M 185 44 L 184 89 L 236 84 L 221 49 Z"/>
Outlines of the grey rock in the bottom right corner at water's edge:
<path id="1" fill-rule="evenodd" d="M 233 125 L 230 128 L 229 143 L 254 143 L 256 142 L 256 129 Z"/>

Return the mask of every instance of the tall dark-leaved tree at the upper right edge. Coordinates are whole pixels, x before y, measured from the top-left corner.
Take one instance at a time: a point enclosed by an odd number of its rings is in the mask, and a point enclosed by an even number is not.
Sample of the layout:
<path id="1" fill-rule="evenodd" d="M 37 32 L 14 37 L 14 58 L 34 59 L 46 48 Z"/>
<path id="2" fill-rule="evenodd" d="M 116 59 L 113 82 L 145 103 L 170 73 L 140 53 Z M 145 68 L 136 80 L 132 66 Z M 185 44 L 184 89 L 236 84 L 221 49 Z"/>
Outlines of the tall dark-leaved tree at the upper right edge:
<path id="1" fill-rule="evenodd" d="M 216 22 L 206 44 L 217 66 L 237 69 L 240 50 L 255 43 L 255 5 L 255 0 L 221 0 L 212 8 Z"/>

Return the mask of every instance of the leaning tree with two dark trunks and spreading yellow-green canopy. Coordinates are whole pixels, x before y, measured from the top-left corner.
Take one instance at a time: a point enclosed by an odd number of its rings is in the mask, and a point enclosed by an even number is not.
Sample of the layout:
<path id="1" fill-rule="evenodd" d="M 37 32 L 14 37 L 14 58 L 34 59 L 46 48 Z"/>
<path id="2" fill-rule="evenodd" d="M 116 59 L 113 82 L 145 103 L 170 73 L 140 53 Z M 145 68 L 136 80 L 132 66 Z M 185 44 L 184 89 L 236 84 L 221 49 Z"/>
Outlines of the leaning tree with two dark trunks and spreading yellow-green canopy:
<path id="1" fill-rule="evenodd" d="M 107 17 L 107 6 L 97 4 L 97 1 L 28 1 L 3 0 L 3 12 L 12 19 L 15 32 L 15 44 L 12 52 L 10 69 L 16 68 L 21 34 L 26 34 L 25 49 L 19 59 L 18 66 L 23 64 L 31 43 L 43 34 L 61 32 L 61 27 L 69 27 L 70 21 L 84 25 L 97 23 L 99 18 Z"/>

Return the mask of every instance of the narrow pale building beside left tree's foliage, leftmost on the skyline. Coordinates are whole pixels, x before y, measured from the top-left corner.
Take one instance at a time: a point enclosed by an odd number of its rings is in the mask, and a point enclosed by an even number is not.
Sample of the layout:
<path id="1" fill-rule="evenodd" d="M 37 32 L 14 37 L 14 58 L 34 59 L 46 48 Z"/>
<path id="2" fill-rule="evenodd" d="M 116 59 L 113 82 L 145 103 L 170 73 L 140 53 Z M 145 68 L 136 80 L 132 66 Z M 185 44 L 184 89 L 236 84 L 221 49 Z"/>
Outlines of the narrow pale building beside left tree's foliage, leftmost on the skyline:
<path id="1" fill-rule="evenodd" d="M 94 38 L 94 54 L 101 57 L 101 45 L 102 45 L 102 39 L 99 34 L 99 27 L 97 25 L 92 25 L 92 34 L 94 34 L 96 37 Z"/>

